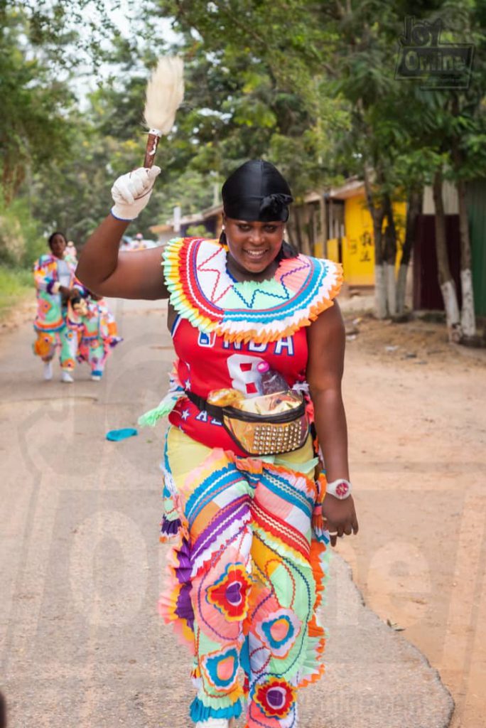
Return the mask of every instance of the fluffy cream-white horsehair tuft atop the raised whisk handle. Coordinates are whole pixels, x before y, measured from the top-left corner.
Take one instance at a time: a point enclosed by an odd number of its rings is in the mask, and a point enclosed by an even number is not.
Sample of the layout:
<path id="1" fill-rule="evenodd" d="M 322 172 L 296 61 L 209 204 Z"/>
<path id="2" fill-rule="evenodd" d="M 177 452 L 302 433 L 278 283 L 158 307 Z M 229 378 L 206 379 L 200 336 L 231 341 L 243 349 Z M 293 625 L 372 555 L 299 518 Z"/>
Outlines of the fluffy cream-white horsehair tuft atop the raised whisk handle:
<path id="1" fill-rule="evenodd" d="M 174 125 L 175 112 L 184 98 L 184 63 L 179 56 L 164 56 L 147 84 L 143 111 L 151 132 L 168 134 Z"/>

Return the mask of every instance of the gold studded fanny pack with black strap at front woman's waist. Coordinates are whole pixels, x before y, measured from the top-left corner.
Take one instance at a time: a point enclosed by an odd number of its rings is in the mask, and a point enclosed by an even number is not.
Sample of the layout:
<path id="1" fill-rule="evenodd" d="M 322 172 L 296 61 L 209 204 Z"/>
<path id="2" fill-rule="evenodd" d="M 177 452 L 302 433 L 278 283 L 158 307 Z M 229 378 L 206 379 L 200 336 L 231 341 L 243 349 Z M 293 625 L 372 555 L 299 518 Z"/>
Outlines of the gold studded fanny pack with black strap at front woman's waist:
<path id="1" fill-rule="evenodd" d="M 248 455 L 280 455 L 306 442 L 308 419 L 300 392 L 250 397 L 237 405 L 218 407 L 186 392 L 200 410 L 218 419 L 236 445 Z"/>

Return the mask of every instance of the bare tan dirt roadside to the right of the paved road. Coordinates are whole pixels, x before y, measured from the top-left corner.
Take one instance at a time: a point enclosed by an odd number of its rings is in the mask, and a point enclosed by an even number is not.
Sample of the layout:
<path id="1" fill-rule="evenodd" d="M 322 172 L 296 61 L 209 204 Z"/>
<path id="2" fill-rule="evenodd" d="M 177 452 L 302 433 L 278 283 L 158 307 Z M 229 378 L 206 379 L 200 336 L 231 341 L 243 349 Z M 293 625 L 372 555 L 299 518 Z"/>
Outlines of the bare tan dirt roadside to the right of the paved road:
<path id="1" fill-rule="evenodd" d="M 346 309 L 346 306 L 343 306 Z M 353 328 L 347 314 L 348 329 Z M 356 318 L 354 319 L 356 320 Z M 338 553 L 439 670 L 452 728 L 486 713 L 486 351 L 443 325 L 356 322 L 344 395 L 361 531 Z"/>

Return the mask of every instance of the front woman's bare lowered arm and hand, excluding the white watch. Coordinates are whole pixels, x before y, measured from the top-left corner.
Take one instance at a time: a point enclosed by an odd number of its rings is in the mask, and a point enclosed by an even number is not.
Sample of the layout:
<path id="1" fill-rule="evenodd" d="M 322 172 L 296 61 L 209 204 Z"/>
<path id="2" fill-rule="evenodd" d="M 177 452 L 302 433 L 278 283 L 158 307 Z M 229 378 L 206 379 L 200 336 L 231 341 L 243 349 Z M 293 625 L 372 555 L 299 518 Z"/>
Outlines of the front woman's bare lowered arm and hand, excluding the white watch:
<path id="1" fill-rule="evenodd" d="M 308 330 L 307 381 L 328 483 L 338 478 L 349 479 L 348 433 L 341 395 L 345 341 L 343 317 L 335 301 Z M 322 513 L 327 518 L 330 531 L 337 531 L 339 536 L 357 533 L 353 496 L 339 500 L 328 494 L 324 498 Z M 331 542 L 334 545 L 335 537 Z"/>

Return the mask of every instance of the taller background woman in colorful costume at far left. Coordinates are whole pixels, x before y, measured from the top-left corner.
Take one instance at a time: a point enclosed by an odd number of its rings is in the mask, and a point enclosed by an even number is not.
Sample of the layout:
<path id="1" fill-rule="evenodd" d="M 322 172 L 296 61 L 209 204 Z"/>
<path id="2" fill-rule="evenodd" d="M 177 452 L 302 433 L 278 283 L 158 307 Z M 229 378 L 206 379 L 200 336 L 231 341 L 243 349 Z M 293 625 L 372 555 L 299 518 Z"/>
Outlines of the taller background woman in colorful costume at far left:
<path id="1" fill-rule="evenodd" d="M 65 261 L 66 240 L 61 232 L 49 237 L 50 253 L 41 256 L 33 266 L 37 294 L 37 315 L 33 328 L 37 339 L 33 352 L 44 362 L 44 379 L 52 379 L 52 360 L 60 350 L 61 381 L 71 384 L 76 334 L 67 325 L 68 302 L 76 295 L 73 288 L 74 269 Z"/>

